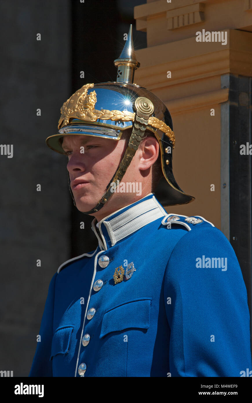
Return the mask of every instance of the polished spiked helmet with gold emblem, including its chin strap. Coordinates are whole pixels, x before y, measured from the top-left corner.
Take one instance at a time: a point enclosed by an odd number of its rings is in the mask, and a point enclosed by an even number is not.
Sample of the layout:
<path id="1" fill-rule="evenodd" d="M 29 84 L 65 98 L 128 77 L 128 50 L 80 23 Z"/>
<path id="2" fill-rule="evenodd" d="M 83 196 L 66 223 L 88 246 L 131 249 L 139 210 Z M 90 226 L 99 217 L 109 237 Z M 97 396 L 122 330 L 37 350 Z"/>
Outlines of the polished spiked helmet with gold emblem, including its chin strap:
<path id="1" fill-rule="evenodd" d="M 84 214 L 100 210 L 111 197 L 115 184 L 118 186 L 122 180 L 146 129 L 153 132 L 160 147 L 163 176 L 157 184 L 155 196 L 163 206 L 192 202 L 194 197 L 180 189 L 172 172 L 175 137 L 171 114 L 157 96 L 133 82 L 134 71 L 140 63 L 134 53 L 132 25 L 122 53 L 114 64 L 118 68 L 116 82 L 85 84 L 78 89 L 60 110 L 58 133 L 46 139 L 46 144 L 52 150 L 66 154 L 60 141 L 64 135 L 92 135 L 118 141 L 125 129 L 132 128 L 127 150 L 114 177 L 108 178 L 111 180 L 106 192 L 97 205 Z"/>

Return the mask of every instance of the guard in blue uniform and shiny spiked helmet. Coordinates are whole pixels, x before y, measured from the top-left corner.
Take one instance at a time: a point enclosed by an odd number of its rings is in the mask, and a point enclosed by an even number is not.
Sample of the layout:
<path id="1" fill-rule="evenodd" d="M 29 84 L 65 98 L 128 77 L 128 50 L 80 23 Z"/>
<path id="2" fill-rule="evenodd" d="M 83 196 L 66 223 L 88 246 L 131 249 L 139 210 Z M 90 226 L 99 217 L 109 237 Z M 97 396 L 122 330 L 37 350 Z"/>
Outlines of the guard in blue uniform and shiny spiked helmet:
<path id="1" fill-rule="evenodd" d="M 239 377 L 252 364 L 238 260 L 214 224 L 163 208 L 194 197 L 174 179 L 169 111 L 134 83 L 131 26 L 114 64 L 116 82 L 83 85 L 46 139 L 98 246 L 54 274 L 29 376 Z M 127 191 L 139 178 L 143 193 Z"/>

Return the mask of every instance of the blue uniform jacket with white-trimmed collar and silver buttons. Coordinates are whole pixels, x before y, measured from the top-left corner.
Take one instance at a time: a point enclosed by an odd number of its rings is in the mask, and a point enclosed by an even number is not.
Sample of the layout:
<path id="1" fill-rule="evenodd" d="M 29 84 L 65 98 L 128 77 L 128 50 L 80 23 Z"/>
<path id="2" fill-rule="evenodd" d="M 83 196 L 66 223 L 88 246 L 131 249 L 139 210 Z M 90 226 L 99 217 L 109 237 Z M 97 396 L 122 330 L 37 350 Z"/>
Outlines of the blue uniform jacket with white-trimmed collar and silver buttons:
<path id="1" fill-rule="evenodd" d="M 62 264 L 51 280 L 29 376 L 252 370 L 238 260 L 219 229 L 196 219 L 167 214 L 153 193 L 105 217 L 98 232 L 94 219 L 97 249 Z"/>

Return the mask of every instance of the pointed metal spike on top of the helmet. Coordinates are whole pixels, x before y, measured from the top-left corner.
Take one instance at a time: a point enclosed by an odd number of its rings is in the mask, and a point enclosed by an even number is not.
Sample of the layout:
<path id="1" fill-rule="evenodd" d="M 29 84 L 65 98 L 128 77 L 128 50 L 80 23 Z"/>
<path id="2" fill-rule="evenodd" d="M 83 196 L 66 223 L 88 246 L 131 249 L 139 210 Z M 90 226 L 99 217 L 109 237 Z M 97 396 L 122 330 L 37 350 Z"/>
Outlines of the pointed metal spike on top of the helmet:
<path id="1" fill-rule="evenodd" d="M 128 38 L 120 54 L 119 58 L 114 60 L 114 65 L 117 66 L 117 82 L 132 83 L 134 80 L 135 70 L 138 69 L 140 63 L 136 60 L 136 55 L 133 46 L 132 24 L 128 32 Z"/>

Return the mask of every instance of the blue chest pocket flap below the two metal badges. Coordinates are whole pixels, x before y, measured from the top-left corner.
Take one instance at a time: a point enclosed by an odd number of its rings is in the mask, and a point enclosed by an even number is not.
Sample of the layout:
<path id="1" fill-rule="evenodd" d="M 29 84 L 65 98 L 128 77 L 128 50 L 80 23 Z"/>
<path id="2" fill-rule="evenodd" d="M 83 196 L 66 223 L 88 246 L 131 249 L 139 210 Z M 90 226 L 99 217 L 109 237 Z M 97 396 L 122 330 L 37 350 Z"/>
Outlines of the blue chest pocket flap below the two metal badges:
<path id="1" fill-rule="evenodd" d="M 99 338 L 128 328 L 148 329 L 151 300 L 152 298 L 133 299 L 107 310 L 102 319 Z"/>

